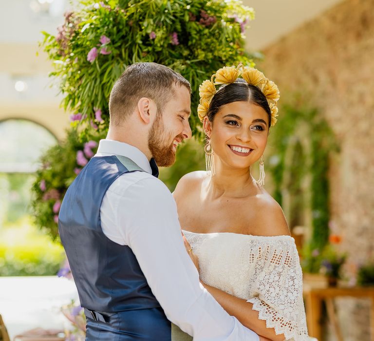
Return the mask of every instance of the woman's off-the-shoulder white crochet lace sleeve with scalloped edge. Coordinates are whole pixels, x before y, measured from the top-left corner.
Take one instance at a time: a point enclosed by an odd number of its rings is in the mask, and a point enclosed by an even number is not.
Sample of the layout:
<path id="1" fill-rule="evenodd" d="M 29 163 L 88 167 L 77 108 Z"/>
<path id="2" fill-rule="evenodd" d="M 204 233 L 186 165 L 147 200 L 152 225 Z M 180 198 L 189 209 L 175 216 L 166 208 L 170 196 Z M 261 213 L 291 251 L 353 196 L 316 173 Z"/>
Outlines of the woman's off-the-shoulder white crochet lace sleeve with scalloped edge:
<path id="1" fill-rule="evenodd" d="M 258 275 L 247 302 L 259 312 L 268 328 L 286 340 L 308 340 L 302 300 L 302 272 L 293 239 L 260 243 L 251 250 Z M 257 272 L 257 271 L 256 271 Z"/>

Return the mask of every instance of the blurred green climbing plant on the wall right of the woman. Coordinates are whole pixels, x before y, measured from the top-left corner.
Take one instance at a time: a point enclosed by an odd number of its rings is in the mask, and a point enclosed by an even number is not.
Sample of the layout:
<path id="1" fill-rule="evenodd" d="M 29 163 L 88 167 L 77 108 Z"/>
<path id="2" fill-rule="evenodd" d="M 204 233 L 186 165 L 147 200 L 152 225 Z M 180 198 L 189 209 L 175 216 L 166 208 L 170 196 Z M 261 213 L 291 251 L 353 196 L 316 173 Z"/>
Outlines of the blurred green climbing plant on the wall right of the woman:
<path id="1" fill-rule="evenodd" d="M 289 144 L 299 139 L 299 130 L 308 127 L 303 138 L 307 141 L 310 150 L 308 154 L 299 154 L 296 150 L 295 162 L 287 165 L 286 152 Z M 308 259 L 305 264 L 308 271 L 317 272 L 320 260 L 311 257 L 313 251 L 320 252 L 328 243 L 329 238 L 329 155 L 337 151 L 337 145 L 326 120 L 316 109 L 299 108 L 286 105 L 281 108 L 281 119 L 277 128 L 270 135 L 269 145 L 273 148 L 268 169 L 272 173 L 275 185 L 274 197 L 282 205 L 282 189 L 289 186 L 291 194 L 300 189 L 301 181 L 305 176 L 311 177 L 311 211 L 312 211 L 312 237 L 310 245 L 304 250 L 304 257 Z M 298 144 L 295 144 L 298 147 Z M 306 151 L 304 151 L 306 152 Z M 308 161 L 308 162 L 307 162 Z M 309 166 L 308 166 L 309 165 Z M 292 172 L 290 184 L 284 184 L 285 174 Z M 304 204 L 305 205 L 305 204 Z M 300 209 L 300 207 L 298 207 Z M 315 252 L 317 252 L 315 251 Z M 310 262 L 310 263 L 308 263 Z"/>

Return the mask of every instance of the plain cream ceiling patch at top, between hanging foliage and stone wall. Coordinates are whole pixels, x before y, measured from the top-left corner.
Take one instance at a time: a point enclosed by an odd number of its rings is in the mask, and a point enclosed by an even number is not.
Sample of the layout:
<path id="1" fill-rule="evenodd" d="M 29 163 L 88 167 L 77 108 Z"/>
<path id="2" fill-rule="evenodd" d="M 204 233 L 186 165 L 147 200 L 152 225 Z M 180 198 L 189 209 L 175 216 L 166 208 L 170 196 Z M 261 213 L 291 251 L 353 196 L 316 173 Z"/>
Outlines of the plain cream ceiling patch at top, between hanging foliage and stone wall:
<path id="1" fill-rule="evenodd" d="M 247 49 L 264 49 L 338 2 L 342 0 L 243 0 L 256 12 L 246 30 Z"/>

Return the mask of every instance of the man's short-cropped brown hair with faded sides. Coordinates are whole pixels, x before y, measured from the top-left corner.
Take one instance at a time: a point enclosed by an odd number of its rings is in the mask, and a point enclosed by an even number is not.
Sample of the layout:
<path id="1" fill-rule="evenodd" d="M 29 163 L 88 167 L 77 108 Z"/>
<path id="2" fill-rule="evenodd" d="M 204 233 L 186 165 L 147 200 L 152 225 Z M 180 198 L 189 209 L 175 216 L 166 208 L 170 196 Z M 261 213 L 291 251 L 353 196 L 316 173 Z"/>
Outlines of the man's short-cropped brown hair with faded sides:
<path id="1" fill-rule="evenodd" d="M 139 99 L 148 97 L 162 112 L 169 98 L 174 95 L 173 84 L 191 86 L 187 79 L 165 65 L 157 63 L 135 63 L 130 65 L 117 79 L 109 99 L 111 124 L 121 124 L 130 115 Z"/>

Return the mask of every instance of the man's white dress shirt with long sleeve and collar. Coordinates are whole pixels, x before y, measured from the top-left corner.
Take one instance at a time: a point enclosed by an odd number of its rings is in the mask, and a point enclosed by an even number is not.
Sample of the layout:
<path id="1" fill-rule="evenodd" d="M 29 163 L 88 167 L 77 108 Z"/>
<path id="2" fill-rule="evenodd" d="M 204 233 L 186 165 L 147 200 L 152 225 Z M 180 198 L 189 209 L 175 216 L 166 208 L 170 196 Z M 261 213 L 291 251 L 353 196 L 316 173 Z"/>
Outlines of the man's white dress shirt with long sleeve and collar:
<path id="1" fill-rule="evenodd" d="M 102 230 L 113 242 L 131 247 L 167 318 L 194 341 L 258 341 L 200 284 L 183 243 L 174 198 L 151 175 L 146 155 L 129 144 L 101 140 L 95 156 L 108 155 L 126 156 L 145 171 L 123 174 L 109 187 L 100 207 Z"/>

